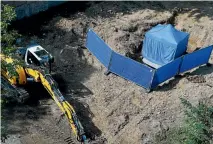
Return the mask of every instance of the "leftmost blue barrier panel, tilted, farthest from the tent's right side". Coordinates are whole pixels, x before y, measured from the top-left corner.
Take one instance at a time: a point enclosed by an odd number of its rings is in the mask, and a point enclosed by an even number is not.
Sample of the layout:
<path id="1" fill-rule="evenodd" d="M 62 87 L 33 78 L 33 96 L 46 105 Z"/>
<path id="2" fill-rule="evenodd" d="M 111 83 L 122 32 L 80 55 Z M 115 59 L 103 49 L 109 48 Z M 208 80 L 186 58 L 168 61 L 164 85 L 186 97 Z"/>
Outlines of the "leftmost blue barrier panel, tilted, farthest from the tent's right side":
<path id="1" fill-rule="evenodd" d="M 86 47 L 89 51 L 108 68 L 112 49 L 91 29 L 87 33 Z"/>

